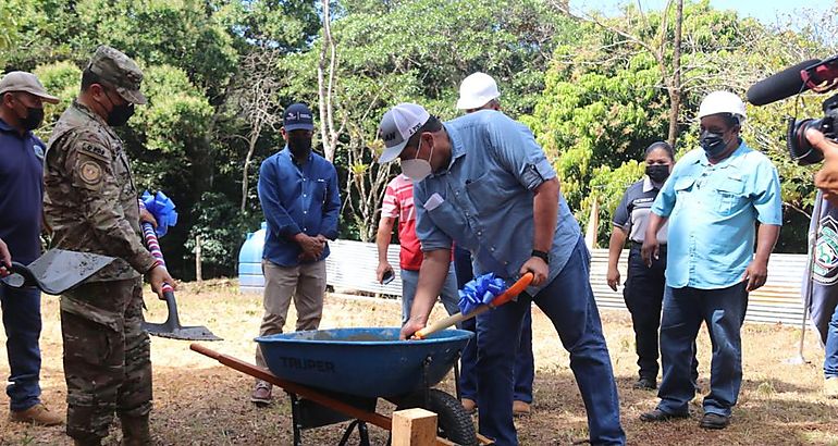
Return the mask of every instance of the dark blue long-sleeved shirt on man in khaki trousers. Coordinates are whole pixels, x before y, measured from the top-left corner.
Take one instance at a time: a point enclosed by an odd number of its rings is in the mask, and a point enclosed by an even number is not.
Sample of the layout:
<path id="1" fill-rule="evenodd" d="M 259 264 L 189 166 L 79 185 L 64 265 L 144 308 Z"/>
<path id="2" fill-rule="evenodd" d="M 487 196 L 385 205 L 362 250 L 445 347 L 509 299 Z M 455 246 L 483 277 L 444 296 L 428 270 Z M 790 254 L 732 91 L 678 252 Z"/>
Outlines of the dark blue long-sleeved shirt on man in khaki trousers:
<path id="1" fill-rule="evenodd" d="M 258 191 L 268 222 L 262 258 L 281 267 L 296 267 L 303 251 L 293 239 L 295 235 L 337 237 L 337 172 L 323 157 L 311 152 L 298 165 L 286 146 L 262 162 Z M 328 256 L 326 245 L 318 260 Z"/>

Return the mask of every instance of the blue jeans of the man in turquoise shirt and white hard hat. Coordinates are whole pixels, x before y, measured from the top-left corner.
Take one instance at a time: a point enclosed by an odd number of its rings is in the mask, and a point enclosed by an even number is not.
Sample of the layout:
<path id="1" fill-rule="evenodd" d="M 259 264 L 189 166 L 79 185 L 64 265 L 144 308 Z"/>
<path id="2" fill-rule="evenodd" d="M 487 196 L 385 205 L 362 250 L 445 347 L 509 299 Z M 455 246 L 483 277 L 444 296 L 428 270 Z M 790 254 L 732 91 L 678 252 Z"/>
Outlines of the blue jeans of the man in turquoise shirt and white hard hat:
<path id="1" fill-rule="evenodd" d="M 710 395 L 704 412 L 729 417 L 742 384 L 740 331 L 748 309 L 745 284 L 722 289 L 666 287 L 661 321 L 661 362 L 664 376 L 657 396 L 660 410 L 686 413 L 695 396 L 690 381 L 693 344 L 701 323 L 707 324 L 713 345 Z"/>

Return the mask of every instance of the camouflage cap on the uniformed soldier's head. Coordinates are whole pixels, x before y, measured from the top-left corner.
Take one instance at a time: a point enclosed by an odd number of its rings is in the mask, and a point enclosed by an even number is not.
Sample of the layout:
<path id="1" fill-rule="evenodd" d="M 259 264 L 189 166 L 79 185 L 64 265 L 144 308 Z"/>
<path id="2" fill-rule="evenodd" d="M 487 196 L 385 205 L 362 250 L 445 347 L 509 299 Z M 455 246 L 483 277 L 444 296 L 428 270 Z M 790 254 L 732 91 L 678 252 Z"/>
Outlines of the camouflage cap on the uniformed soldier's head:
<path id="1" fill-rule="evenodd" d="M 126 101 L 139 106 L 147 102 L 146 97 L 139 92 L 143 71 L 122 51 L 107 45 L 99 46 L 87 69 L 113 86 Z"/>

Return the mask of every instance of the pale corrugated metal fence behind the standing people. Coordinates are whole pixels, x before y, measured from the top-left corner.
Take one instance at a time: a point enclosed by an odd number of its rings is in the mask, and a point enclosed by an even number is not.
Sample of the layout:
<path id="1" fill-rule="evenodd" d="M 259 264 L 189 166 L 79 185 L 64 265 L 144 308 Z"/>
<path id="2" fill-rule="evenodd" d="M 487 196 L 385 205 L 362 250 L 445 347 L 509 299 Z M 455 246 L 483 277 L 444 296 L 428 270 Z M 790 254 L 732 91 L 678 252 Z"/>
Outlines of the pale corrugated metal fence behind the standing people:
<path id="1" fill-rule="evenodd" d="M 398 274 L 398 245 L 391 245 L 387 259 L 396 272 L 396 278 L 389 285 L 375 282 L 378 251 L 371 243 L 335 240 L 330 243 L 331 255 L 326 259 L 326 274 L 330 285 L 367 293 L 402 295 Z M 608 267 L 608 250 L 594 249 L 591 252 L 591 287 L 600 308 L 626 309 L 623 288 L 608 288 L 605 274 Z M 620 274 L 626 278 L 628 249 L 624 249 L 619 261 Z M 805 256 L 775 253 L 768 262 L 768 282 L 751 293 L 745 320 L 762 323 L 799 325 L 803 317 L 800 297 L 801 281 L 805 269 Z"/>

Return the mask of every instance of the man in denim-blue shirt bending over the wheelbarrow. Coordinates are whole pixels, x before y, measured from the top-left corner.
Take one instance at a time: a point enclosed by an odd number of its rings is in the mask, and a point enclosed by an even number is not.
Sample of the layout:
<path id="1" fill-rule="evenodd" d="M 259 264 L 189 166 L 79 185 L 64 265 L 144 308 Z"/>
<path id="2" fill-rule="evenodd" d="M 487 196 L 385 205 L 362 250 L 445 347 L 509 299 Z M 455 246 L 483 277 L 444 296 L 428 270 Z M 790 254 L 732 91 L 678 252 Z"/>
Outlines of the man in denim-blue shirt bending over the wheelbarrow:
<path id="1" fill-rule="evenodd" d="M 402 103 L 381 121 L 386 149 L 416 183 L 417 235 L 424 261 L 407 337 L 423 327 L 447 275 L 452 241 L 471 251 L 476 274 L 507 280 L 531 272 L 532 286 L 478 317 L 479 431 L 518 444 L 513 364 L 523 314 L 534 301 L 556 326 L 584 406 L 591 443 L 625 444 L 619 401 L 600 314 L 589 283 L 590 256 L 558 178 L 527 126 L 482 110 L 443 126 L 420 106 Z M 513 334 L 513 335 L 510 335 Z M 518 334 L 518 335 L 515 335 Z"/>

